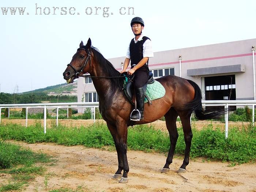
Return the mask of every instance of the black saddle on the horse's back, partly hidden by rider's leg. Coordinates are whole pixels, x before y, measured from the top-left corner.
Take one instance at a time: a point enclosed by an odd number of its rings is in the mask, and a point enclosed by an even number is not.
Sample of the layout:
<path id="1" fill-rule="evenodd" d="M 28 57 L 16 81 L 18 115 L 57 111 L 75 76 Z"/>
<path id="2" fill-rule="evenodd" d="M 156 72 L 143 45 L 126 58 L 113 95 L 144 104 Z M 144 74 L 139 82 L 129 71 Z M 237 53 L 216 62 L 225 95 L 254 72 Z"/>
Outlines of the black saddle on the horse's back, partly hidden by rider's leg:
<path id="1" fill-rule="evenodd" d="M 144 94 L 145 94 L 145 100 L 147 99 L 148 102 L 152 105 L 152 101 L 150 99 L 150 97 L 146 94 L 146 90 L 147 90 L 147 85 L 148 84 L 153 84 L 154 83 L 154 78 L 153 78 L 153 73 L 149 73 L 149 77 L 148 80 L 146 82 L 146 84 L 144 84 L 143 86 L 143 90 L 144 90 Z M 134 88 L 133 88 L 133 83 L 131 80 L 128 80 L 127 77 L 125 77 L 124 80 L 124 93 L 126 95 L 126 97 L 128 98 L 128 100 L 134 105 L 133 102 L 133 92 L 134 92 Z"/>

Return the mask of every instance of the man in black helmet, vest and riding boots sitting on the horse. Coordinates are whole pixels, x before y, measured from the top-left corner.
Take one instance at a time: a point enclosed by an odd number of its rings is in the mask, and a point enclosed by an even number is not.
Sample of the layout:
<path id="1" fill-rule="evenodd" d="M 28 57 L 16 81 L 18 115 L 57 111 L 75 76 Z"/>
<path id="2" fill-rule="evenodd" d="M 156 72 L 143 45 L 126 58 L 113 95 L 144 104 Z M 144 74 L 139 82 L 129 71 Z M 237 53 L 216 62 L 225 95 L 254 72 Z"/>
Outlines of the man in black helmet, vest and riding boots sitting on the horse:
<path id="1" fill-rule="evenodd" d="M 131 20 L 132 32 L 135 37 L 131 40 L 126 58 L 124 61 L 124 68 L 121 73 L 125 72 L 130 60 L 131 69 L 128 70 L 128 75 L 134 74 L 133 86 L 135 87 L 135 95 L 137 100 L 138 110 L 131 114 L 132 121 L 140 121 L 143 119 L 144 112 L 144 90 L 143 86 L 146 84 L 149 75 L 148 58 L 153 57 L 152 43 L 150 38 L 142 35 L 144 29 L 144 21 L 140 17 L 135 17 Z"/>

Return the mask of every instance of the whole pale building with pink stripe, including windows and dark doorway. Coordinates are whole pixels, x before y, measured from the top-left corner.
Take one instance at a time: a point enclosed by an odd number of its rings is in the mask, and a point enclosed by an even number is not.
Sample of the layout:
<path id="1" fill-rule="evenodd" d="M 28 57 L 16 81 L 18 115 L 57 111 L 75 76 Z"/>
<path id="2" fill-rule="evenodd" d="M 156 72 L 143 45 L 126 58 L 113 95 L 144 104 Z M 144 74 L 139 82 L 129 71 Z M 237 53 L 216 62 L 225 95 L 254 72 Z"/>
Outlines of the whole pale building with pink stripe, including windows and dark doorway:
<path id="1" fill-rule="evenodd" d="M 149 59 L 154 78 L 180 76 L 196 82 L 205 100 L 253 99 L 253 55 L 256 39 L 155 52 Z M 108 59 L 121 71 L 125 57 Z M 78 102 L 97 102 L 91 78 L 78 79 Z M 81 110 L 80 110 L 81 112 Z"/>

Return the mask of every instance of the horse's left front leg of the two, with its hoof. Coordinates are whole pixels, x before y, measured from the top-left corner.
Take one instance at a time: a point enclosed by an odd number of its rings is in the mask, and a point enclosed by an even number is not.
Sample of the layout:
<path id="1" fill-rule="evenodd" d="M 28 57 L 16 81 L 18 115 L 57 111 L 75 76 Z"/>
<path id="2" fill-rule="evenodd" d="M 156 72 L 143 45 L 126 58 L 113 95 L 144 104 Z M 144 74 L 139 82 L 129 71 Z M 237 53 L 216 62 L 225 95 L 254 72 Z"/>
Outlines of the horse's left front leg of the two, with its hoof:
<path id="1" fill-rule="evenodd" d="M 108 125 L 108 128 L 109 128 L 109 131 L 114 139 L 114 143 L 115 143 L 115 146 L 116 146 L 116 152 L 117 152 L 117 159 L 118 159 L 118 169 L 116 171 L 116 173 L 114 174 L 113 178 L 121 178 L 122 177 L 122 171 L 124 169 L 124 164 L 123 164 L 123 157 L 122 157 L 122 154 L 121 154 L 121 150 L 120 150 L 120 145 L 118 144 L 118 135 L 117 135 L 117 128 L 116 126 L 113 126 L 109 123 L 107 123 Z"/>

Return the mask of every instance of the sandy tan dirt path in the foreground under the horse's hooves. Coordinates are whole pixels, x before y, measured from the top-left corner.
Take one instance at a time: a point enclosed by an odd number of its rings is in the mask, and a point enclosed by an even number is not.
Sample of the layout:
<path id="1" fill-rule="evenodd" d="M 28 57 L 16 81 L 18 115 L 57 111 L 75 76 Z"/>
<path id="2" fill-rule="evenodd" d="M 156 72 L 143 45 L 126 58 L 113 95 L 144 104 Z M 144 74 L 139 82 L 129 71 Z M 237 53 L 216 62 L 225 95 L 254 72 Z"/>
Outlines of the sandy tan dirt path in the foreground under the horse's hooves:
<path id="1" fill-rule="evenodd" d="M 175 157 L 170 172 L 161 173 L 165 154 L 128 151 L 129 182 L 120 184 L 112 176 L 117 169 L 116 151 L 86 148 L 84 146 L 61 146 L 52 143 L 27 144 L 9 141 L 52 155 L 57 162 L 47 166 L 51 173 L 47 191 L 67 187 L 84 186 L 86 191 L 106 192 L 172 192 L 172 191 L 249 191 L 256 192 L 256 163 L 229 167 L 228 163 L 208 162 L 196 158 L 190 161 L 186 173 L 177 173 L 183 157 Z M 7 181 L 2 174 L 0 182 Z M 44 177 L 35 178 L 25 191 L 44 192 Z"/>

